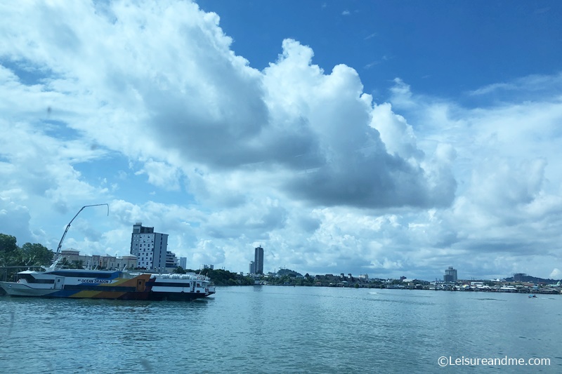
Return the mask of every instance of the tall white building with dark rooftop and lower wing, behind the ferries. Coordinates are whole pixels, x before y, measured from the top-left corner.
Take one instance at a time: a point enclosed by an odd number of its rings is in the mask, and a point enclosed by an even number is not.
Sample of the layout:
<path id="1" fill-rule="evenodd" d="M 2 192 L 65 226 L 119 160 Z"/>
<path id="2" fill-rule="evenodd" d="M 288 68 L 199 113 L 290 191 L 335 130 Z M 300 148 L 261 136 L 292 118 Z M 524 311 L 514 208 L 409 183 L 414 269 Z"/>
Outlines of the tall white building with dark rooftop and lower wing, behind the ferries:
<path id="1" fill-rule="evenodd" d="M 154 227 L 144 227 L 142 222 L 133 225 L 131 255 L 136 256 L 136 267 L 148 270 L 164 270 L 167 265 L 177 266 L 176 255 L 168 254 L 168 234 L 154 232 Z M 166 260 L 170 260 L 167 262 Z"/>

